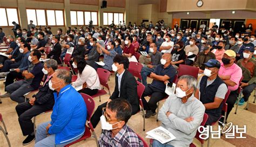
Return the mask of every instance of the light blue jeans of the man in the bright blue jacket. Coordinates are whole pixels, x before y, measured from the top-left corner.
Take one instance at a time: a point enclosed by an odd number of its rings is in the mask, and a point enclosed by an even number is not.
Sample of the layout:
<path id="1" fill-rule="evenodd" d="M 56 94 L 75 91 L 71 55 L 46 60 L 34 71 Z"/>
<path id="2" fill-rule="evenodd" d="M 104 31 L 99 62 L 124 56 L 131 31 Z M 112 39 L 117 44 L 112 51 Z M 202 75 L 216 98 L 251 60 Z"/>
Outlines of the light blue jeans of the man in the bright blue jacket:
<path id="1" fill-rule="evenodd" d="M 77 141 L 79 138 L 81 138 L 83 136 L 83 135 L 80 135 L 80 136 L 78 136 L 77 138 L 73 139 L 70 142 L 66 142 L 66 143 L 63 143 L 63 144 L 55 144 L 55 134 L 52 134 L 50 136 L 47 136 L 47 134 L 46 134 L 46 127 L 50 122 L 51 121 L 39 124 L 39 126 L 37 128 L 37 131 L 36 131 L 35 147 L 51 147 L 51 146 L 60 147 L 60 146 L 65 146 L 67 144 L 70 144 L 72 142 Z"/>

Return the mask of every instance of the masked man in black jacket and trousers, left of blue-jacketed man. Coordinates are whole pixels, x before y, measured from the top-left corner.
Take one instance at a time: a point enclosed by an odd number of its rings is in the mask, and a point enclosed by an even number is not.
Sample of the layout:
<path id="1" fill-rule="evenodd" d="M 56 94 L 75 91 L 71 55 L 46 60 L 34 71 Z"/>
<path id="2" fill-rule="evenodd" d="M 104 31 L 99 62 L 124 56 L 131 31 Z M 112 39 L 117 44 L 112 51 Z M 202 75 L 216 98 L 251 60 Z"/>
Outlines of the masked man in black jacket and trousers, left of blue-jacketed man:
<path id="1" fill-rule="evenodd" d="M 39 92 L 33 95 L 32 99 L 16 106 L 22 134 L 27 136 L 22 142 L 23 145 L 27 145 L 35 139 L 33 123 L 31 121 L 32 117 L 52 109 L 54 105 L 53 91 L 49 89 L 49 81 L 57 67 L 57 61 L 53 59 L 45 61 L 44 68 L 42 69 L 45 74 L 43 87 L 39 88 Z"/>

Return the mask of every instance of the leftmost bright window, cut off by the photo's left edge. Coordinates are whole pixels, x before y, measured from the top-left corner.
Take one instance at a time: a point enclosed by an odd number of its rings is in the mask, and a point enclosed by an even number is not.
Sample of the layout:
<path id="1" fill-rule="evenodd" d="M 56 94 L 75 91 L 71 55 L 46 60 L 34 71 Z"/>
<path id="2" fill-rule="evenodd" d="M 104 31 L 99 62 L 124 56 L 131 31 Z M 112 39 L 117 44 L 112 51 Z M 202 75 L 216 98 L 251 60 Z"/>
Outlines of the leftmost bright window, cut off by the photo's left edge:
<path id="1" fill-rule="evenodd" d="M 0 14 L 0 26 L 14 26 L 12 22 L 19 24 L 17 9 L 0 8 Z"/>

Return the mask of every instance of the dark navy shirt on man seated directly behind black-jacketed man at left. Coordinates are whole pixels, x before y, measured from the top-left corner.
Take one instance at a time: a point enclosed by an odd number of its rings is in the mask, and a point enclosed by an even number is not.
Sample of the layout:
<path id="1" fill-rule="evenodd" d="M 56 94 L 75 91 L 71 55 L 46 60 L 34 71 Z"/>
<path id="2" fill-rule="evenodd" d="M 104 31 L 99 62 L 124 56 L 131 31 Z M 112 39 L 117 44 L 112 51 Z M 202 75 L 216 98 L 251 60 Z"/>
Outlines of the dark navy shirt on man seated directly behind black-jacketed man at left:
<path id="1" fill-rule="evenodd" d="M 42 72 L 43 67 L 44 67 L 43 64 L 41 62 L 38 62 L 37 64 L 35 64 L 32 71 L 30 71 L 30 73 L 35 76 L 30 86 L 35 89 L 38 89 L 40 82 L 44 76 L 44 73 Z"/>

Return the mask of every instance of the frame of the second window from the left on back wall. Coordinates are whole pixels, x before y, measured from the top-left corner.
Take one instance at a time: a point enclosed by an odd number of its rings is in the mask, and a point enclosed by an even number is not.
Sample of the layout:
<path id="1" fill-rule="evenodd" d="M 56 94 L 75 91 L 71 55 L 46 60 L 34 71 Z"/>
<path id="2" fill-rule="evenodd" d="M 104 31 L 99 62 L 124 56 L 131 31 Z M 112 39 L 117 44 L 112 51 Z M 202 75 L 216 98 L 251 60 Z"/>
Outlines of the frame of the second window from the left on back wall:
<path id="1" fill-rule="evenodd" d="M 42 8 L 25 8 L 26 10 L 27 9 L 31 9 L 31 10 L 44 10 L 44 15 L 45 15 L 45 25 L 46 26 L 66 26 L 65 25 L 65 15 L 64 15 L 64 9 L 42 9 Z M 47 12 L 46 12 L 46 10 L 53 10 L 54 11 L 54 14 L 55 14 L 55 24 L 56 25 L 48 25 L 48 19 L 47 19 Z M 57 22 L 56 22 L 56 11 L 62 11 L 62 16 L 63 16 L 63 25 L 57 25 Z M 28 20 L 28 17 L 26 17 L 26 19 Z M 36 13 L 36 21 L 37 21 L 37 13 Z M 28 20 L 28 22 L 29 22 L 29 20 Z M 37 25 L 36 26 L 40 26 L 40 25 L 38 25 L 38 21 L 36 22 L 37 23 Z M 41 25 L 42 26 L 42 25 Z"/>

